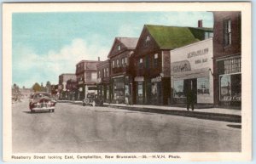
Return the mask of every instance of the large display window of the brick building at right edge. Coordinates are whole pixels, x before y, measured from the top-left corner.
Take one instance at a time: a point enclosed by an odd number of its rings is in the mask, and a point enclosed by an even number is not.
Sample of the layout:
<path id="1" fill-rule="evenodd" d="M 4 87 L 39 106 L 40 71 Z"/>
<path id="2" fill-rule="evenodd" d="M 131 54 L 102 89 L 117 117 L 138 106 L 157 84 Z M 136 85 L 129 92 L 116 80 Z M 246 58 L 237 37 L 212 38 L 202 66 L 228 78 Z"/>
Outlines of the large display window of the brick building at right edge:
<path id="1" fill-rule="evenodd" d="M 219 76 L 221 101 L 241 101 L 241 74 Z"/>

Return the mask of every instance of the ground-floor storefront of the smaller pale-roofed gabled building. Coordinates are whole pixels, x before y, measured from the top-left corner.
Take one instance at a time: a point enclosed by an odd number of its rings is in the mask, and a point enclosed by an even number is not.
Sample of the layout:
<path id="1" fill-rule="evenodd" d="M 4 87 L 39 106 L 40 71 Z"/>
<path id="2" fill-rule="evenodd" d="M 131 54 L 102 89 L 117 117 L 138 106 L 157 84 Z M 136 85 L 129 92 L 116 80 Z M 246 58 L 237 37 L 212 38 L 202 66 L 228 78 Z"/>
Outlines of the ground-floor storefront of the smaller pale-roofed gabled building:
<path id="1" fill-rule="evenodd" d="M 112 102 L 117 104 L 125 104 L 125 96 L 127 97 L 131 95 L 129 76 L 112 77 L 112 88 Z"/>

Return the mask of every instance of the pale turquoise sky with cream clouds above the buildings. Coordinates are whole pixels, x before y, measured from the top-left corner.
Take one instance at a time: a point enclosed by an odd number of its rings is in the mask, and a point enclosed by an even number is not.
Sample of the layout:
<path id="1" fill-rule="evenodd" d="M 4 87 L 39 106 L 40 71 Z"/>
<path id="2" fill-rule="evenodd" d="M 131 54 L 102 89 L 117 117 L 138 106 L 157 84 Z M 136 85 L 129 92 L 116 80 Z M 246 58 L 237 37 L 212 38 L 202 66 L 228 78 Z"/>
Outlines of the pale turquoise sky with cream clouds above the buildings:
<path id="1" fill-rule="evenodd" d="M 114 37 L 139 37 L 143 25 L 213 27 L 211 12 L 79 12 L 12 15 L 12 83 L 57 84 L 82 59 L 107 59 Z"/>

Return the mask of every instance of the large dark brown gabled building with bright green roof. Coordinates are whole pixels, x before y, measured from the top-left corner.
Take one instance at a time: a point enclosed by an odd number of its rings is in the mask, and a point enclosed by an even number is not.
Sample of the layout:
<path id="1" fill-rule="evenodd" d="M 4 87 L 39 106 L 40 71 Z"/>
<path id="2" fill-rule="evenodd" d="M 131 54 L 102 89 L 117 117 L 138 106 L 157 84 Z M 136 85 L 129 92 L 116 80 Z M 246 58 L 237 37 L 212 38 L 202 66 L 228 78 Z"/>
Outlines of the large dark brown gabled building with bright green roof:
<path id="1" fill-rule="evenodd" d="M 137 104 L 171 103 L 170 50 L 210 37 L 212 29 L 144 25 L 135 49 L 134 101 Z"/>

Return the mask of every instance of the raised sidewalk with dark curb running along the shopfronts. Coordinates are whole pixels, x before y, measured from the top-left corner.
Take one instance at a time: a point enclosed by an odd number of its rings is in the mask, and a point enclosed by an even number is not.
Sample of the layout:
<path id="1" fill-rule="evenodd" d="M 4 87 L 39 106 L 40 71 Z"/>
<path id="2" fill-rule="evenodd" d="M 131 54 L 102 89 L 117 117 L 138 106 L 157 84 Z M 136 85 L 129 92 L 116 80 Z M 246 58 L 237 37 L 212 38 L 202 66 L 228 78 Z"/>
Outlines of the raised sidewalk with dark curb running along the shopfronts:
<path id="1" fill-rule="evenodd" d="M 188 111 L 183 107 L 157 106 L 157 105 L 123 105 L 107 104 L 104 105 L 117 107 L 125 110 L 139 110 L 143 112 L 160 113 L 174 116 L 188 116 L 199 119 L 208 119 L 223 122 L 241 122 L 241 110 L 230 110 L 224 108 L 195 109 Z"/>

